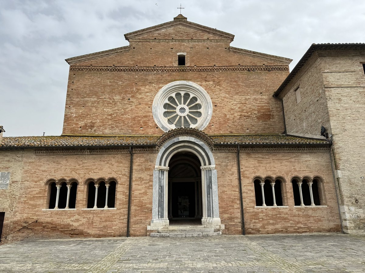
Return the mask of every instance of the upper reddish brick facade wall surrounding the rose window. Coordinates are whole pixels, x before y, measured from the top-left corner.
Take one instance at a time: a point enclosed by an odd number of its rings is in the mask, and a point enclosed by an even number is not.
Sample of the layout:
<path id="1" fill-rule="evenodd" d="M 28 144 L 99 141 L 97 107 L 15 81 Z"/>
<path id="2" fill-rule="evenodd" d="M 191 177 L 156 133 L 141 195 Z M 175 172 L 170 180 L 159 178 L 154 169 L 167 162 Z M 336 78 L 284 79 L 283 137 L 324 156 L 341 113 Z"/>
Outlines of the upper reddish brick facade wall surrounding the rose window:
<path id="1" fill-rule="evenodd" d="M 173 41 L 176 33 L 180 33 L 180 40 Z M 163 37 L 169 40 L 160 36 L 156 40 L 152 36 L 150 40 L 131 39 L 127 52 L 72 64 L 63 134 L 160 135 L 162 131 L 152 116 L 152 102 L 160 88 L 176 80 L 195 82 L 210 95 L 213 115 L 204 130 L 208 134 L 283 132 L 281 105 L 272 98 L 272 93 L 288 75 L 288 61 L 230 50 L 229 40 L 213 39 L 206 33 L 199 34 L 204 40 L 196 40 L 197 35 L 187 28 L 166 29 Z M 194 39 L 186 40 L 191 37 Z M 93 71 L 105 66 L 177 67 L 179 52 L 187 53 L 187 66 L 216 65 L 226 70 Z M 282 70 L 235 71 L 238 66 L 269 65 L 280 66 Z M 82 66 L 82 71 L 74 71 L 78 66 Z"/>

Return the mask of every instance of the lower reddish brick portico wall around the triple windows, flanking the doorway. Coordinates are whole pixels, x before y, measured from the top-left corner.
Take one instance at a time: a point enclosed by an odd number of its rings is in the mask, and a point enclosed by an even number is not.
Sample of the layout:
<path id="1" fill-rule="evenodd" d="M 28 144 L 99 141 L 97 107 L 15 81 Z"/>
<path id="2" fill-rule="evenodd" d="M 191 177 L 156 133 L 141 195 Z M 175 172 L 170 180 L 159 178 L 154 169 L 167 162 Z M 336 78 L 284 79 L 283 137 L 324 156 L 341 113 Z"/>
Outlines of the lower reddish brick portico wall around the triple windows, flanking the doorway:
<path id="1" fill-rule="evenodd" d="M 71 151 L 71 150 L 70 150 Z M 38 219 L 27 229 L 9 236 L 7 242 L 24 238 L 125 236 L 127 226 L 130 155 L 127 151 L 88 150 L 88 154 L 36 155 L 34 150 L 3 151 L 1 165 L 13 162 L 18 171 L 8 190 L 1 192 L 5 212 L 3 235 Z M 94 153 L 94 154 L 93 154 Z M 19 155 L 23 156 L 19 160 Z M 131 236 L 146 236 L 152 216 L 152 182 L 156 153 L 136 152 L 133 165 Z M 234 152 L 215 152 L 218 174 L 219 213 L 226 234 L 241 234 L 241 211 Z M 241 151 L 241 176 L 247 234 L 339 231 L 338 207 L 328 152 L 249 153 Z M 24 166 L 22 169 L 20 166 Z M 103 166 L 103 167 L 100 167 Z M 294 167 L 293 167 L 294 166 Z M 10 170 L 10 169 L 9 169 Z M 288 207 L 255 208 L 252 179 L 256 175 L 285 178 Z M 294 175 L 320 175 L 324 179 L 327 207 L 294 207 L 290 179 Z M 116 209 L 85 209 L 87 178 L 114 177 L 118 181 Z M 76 178 L 76 210 L 47 210 L 49 178 Z M 18 197 L 17 197 L 18 196 Z M 9 200 L 5 201 L 4 200 Z"/>

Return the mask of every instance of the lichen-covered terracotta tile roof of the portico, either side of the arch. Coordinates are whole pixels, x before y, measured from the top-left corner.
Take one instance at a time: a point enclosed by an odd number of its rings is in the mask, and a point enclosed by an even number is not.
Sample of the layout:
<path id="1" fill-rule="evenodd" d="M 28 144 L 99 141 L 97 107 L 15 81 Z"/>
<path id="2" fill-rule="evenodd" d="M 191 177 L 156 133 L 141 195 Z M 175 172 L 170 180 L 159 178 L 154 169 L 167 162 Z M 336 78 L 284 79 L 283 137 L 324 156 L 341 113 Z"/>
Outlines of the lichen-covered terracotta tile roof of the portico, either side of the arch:
<path id="1" fill-rule="evenodd" d="M 0 147 L 65 147 L 155 145 L 161 136 L 46 136 L 3 137 Z M 210 135 L 215 144 L 329 144 L 326 140 L 292 137 L 283 134 Z"/>

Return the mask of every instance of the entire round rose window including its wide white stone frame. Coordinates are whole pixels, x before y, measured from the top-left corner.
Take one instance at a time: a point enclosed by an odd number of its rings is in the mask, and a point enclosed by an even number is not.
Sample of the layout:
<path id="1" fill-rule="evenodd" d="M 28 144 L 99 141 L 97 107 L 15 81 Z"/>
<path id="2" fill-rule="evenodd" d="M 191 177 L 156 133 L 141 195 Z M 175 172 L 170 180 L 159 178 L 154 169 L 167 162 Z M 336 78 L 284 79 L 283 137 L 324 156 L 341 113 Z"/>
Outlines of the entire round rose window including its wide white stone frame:
<path id="1" fill-rule="evenodd" d="M 213 105 L 199 84 L 179 80 L 162 87 L 152 104 L 153 119 L 167 132 L 176 128 L 203 130 L 212 117 Z"/>

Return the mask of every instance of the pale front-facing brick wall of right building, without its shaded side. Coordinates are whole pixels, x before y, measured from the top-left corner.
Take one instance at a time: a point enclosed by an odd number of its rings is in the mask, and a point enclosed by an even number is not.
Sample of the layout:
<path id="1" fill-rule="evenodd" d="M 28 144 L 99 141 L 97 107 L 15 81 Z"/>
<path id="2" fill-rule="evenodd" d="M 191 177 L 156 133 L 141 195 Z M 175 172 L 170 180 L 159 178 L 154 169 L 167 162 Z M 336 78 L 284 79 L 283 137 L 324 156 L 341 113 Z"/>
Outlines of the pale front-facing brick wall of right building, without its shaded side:
<path id="1" fill-rule="evenodd" d="M 319 51 L 319 55 L 344 229 L 347 233 L 364 233 L 365 75 L 360 63 L 365 62 L 364 51 Z"/>

